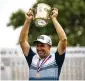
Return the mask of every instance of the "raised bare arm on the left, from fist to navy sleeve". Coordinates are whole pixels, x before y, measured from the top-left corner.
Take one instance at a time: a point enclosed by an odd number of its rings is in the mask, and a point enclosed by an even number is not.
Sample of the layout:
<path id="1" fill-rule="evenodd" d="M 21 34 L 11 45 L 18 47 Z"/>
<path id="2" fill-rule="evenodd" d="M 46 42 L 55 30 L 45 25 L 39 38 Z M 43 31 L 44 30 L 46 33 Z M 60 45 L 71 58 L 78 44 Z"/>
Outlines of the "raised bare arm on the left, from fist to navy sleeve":
<path id="1" fill-rule="evenodd" d="M 30 49 L 30 45 L 28 43 L 28 34 L 29 34 L 30 23 L 32 21 L 32 18 L 33 18 L 33 12 L 30 9 L 26 13 L 26 20 L 24 22 L 24 26 L 21 30 L 20 37 L 19 37 L 19 43 L 25 56 L 28 56 L 29 49 Z"/>

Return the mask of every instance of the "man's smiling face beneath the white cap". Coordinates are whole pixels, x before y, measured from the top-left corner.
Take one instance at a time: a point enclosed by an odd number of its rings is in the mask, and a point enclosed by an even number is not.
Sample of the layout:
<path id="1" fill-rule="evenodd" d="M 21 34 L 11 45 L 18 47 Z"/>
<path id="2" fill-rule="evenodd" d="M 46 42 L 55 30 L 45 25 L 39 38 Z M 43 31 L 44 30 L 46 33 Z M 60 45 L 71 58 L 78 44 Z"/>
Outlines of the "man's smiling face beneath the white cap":
<path id="1" fill-rule="evenodd" d="M 41 58 L 45 58 L 50 54 L 50 48 L 51 46 L 49 46 L 48 44 L 43 44 L 43 43 L 36 44 L 37 53 Z"/>

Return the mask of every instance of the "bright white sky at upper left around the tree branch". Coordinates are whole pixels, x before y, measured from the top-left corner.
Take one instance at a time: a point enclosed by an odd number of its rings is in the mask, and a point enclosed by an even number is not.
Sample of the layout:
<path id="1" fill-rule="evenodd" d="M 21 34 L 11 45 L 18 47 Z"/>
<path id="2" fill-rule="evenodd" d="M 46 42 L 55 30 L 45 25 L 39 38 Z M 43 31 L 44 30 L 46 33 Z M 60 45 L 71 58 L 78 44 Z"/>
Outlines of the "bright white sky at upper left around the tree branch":
<path id="1" fill-rule="evenodd" d="M 11 13 L 18 9 L 27 12 L 35 2 L 36 0 L 0 0 L 0 48 L 11 48 L 18 42 L 21 27 L 13 30 L 6 26 Z"/>

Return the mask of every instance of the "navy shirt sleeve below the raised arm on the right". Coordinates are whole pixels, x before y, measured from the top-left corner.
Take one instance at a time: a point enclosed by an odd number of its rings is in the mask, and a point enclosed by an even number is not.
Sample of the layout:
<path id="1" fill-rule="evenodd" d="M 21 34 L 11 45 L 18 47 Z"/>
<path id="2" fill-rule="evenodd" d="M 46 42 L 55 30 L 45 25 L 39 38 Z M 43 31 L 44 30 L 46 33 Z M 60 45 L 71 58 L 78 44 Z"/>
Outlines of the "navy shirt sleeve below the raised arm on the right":
<path id="1" fill-rule="evenodd" d="M 65 59 L 65 52 L 62 55 L 59 55 L 58 51 L 55 53 L 55 60 L 56 63 L 58 64 L 58 67 L 62 67 L 64 59 Z"/>

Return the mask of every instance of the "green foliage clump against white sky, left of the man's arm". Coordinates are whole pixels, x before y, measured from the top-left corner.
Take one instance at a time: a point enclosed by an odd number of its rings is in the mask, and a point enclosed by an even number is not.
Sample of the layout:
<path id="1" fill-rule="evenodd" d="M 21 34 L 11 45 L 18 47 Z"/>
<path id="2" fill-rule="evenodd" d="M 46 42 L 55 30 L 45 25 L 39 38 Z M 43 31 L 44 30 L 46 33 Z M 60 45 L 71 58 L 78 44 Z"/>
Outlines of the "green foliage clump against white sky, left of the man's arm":
<path id="1" fill-rule="evenodd" d="M 7 26 L 13 26 L 14 29 L 18 28 L 19 26 L 22 26 L 25 21 L 25 15 L 23 10 L 18 10 L 10 16 L 10 21 L 7 24 Z"/>

